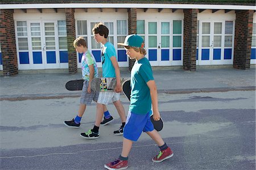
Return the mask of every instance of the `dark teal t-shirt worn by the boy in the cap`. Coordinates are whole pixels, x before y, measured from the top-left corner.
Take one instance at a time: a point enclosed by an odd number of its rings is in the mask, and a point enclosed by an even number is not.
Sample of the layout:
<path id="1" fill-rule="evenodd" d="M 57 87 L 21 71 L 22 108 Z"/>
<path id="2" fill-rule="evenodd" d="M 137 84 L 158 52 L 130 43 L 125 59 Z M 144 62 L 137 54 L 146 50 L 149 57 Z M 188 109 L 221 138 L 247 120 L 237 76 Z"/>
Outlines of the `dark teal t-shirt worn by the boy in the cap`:
<path id="1" fill-rule="evenodd" d="M 147 82 L 154 80 L 152 68 L 147 58 L 135 61 L 131 69 L 131 103 L 130 111 L 147 114 L 151 110 L 150 89 Z"/>

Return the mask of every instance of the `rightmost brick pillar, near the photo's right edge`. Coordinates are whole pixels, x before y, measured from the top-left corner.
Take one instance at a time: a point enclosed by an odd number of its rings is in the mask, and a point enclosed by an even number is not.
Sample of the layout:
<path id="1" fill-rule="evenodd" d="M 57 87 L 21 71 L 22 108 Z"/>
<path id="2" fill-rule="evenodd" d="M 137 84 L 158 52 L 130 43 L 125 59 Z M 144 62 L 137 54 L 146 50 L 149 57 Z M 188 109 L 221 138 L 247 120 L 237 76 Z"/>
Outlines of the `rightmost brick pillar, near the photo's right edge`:
<path id="1" fill-rule="evenodd" d="M 249 69 L 251 36 L 253 34 L 253 10 L 236 11 L 233 67 Z"/>

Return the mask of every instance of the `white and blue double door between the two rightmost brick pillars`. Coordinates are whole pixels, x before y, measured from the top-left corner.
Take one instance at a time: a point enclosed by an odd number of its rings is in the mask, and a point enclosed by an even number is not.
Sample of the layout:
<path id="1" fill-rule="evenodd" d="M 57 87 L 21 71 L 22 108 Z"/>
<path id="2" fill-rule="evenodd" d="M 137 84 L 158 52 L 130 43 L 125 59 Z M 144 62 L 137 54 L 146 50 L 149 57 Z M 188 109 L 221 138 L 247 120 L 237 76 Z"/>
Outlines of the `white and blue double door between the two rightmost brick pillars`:
<path id="1" fill-rule="evenodd" d="M 200 20 L 197 27 L 197 64 L 232 64 L 233 21 Z"/>

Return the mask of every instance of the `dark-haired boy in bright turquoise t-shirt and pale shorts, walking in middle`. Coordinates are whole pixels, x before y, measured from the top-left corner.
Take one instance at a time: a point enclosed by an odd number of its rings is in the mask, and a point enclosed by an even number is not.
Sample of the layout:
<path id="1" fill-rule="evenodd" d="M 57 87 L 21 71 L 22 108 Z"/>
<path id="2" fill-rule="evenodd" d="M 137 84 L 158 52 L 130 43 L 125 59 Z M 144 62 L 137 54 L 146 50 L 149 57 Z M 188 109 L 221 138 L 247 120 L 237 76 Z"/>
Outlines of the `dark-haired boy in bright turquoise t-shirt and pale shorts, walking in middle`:
<path id="1" fill-rule="evenodd" d="M 113 102 L 122 121 L 122 125 L 118 130 L 114 131 L 114 135 L 123 135 L 123 127 L 125 126 L 126 117 L 125 109 L 120 101 L 120 92 L 122 89 L 117 54 L 115 52 L 114 45 L 108 42 L 109 29 L 103 23 L 97 23 L 93 27 L 92 31 L 96 42 L 102 44 L 102 77 L 115 77 L 117 84 L 114 92 L 100 92 L 98 96 L 96 121 L 94 123 L 94 127 L 87 132 L 81 133 L 81 136 L 86 139 L 97 139 L 99 137 L 99 128 L 100 125 L 102 125 L 101 119 L 103 117 L 104 108 L 110 102 Z M 108 122 L 108 120 L 109 119 L 104 117 L 103 122 Z"/>

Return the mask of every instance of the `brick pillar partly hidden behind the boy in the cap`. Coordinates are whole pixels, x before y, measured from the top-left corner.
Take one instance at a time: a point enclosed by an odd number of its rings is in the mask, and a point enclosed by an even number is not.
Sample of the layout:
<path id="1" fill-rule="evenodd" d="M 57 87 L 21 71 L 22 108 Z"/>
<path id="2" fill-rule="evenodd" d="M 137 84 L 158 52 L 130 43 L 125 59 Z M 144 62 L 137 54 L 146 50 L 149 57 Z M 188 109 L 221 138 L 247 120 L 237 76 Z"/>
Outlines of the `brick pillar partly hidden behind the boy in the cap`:
<path id="1" fill-rule="evenodd" d="M 128 26 L 129 26 L 129 34 L 136 34 L 137 33 L 137 9 L 129 9 L 128 10 Z M 129 70 L 133 68 L 135 63 L 135 59 L 129 59 Z"/>

